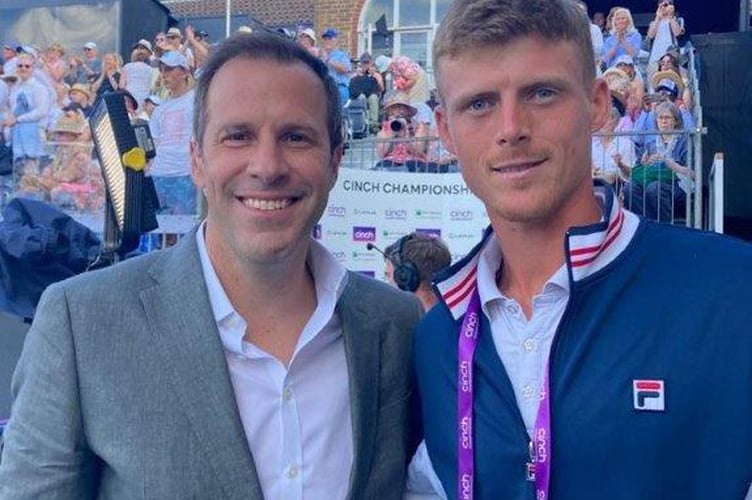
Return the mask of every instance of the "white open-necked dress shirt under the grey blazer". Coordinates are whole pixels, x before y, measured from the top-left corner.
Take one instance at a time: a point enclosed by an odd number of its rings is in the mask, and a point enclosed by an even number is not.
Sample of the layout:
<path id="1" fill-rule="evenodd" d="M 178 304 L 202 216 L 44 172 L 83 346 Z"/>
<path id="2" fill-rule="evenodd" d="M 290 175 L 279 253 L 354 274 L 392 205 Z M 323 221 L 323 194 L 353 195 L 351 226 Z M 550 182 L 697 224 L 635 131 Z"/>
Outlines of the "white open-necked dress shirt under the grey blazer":
<path id="1" fill-rule="evenodd" d="M 311 241 L 317 306 L 285 366 L 243 340 L 246 321 L 217 277 L 203 229 L 196 237 L 204 280 L 264 498 L 346 498 L 353 436 L 342 327 L 334 313 L 345 269 Z"/>

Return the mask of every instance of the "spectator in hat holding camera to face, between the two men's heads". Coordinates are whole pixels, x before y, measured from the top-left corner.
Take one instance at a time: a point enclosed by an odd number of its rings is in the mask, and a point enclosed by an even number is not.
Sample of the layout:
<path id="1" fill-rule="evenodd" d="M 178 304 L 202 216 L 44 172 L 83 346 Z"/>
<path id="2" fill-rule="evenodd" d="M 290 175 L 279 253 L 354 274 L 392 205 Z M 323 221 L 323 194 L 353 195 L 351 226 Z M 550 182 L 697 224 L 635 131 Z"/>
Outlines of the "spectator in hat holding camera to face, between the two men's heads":
<path id="1" fill-rule="evenodd" d="M 395 91 L 384 98 L 386 114 L 376 135 L 376 151 L 381 158 L 374 170 L 425 171 L 429 127 L 415 121 L 418 110 L 410 105 L 405 92 Z"/>

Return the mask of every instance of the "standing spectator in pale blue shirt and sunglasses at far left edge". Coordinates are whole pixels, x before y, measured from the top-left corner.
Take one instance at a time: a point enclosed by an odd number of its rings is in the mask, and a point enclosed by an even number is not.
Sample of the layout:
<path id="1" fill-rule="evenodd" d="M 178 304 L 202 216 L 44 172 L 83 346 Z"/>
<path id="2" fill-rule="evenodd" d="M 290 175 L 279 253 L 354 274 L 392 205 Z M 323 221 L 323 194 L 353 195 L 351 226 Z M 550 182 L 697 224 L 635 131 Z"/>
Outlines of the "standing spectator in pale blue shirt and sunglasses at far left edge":
<path id="1" fill-rule="evenodd" d="M 10 113 L 4 125 L 11 127 L 13 160 L 21 162 L 18 173 L 39 173 L 39 159 L 45 156 L 40 127 L 50 111 L 50 92 L 34 78 L 34 58 L 31 54 L 16 57 L 18 81 L 10 92 Z"/>

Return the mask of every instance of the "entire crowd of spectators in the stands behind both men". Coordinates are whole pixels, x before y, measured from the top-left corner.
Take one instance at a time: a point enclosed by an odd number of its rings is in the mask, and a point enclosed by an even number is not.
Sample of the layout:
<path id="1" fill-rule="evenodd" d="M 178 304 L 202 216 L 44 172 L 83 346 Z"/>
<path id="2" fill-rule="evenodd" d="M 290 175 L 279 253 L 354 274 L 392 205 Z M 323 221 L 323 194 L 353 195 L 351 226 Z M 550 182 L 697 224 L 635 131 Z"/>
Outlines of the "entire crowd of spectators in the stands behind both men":
<path id="1" fill-rule="evenodd" d="M 580 3 L 587 13 L 585 3 Z M 238 31 L 252 32 L 246 26 Z M 614 7 L 607 15 L 596 12 L 591 19 L 596 71 L 613 97 L 610 120 L 593 141 L 593 175 L 615 184 L 623 196 L 633 196 L 626 200 L 631 209 L 654 219 L 666 206 L 672 213 L 681 211 L 686 189 L 679 186 L 691 185 L 684 179 L 691 174 L 686 168 L 686 138 L 665 140 L 672 134 L 679 137 L 677 131 L 691 129 L 695 123 L 690 75 L 682 65 L 685 55 L 679 43 L 683 33 L 684 22 L 673 0 L 659 0 L 645 33 L 635 27 L 625 7 Z M 349 117 L 351 126 L 354 120 L 363 120 L 361 136 L 374 137 L 378 157 L 374 168 L 415 172 L 457 169 L 454 156 L 435 139 L 432 109 L 436 99 L 430 76 L 420 64 L 406 56 L 374 58 L 368 52 L 352 57 L 340 46 L 339 33 L 333 28 L 317 34 L 303 27 L 283 35 L 294 37 L 326 63 L 339 87 L 346 120 Z M 153 41 L 139 40 L 125 64 L 120 54 L 100 55 L 94 42 L 71 50 L 59 43 L 41 49 L 6 41 L 0 126 L 4 142 L 12 146 L 15 168 L 14 175 L 3 176 L 4 192 L 18 189 L 21 179 L 28 193 L 35 191 L 34 186 L 46 185 L 50 178 L 67 179 L 68 174 L 50 174 L 50 168 L 60 163 L 54 160 L 66 157 L 56 151 L 62 147 L 57 146 L 59 131 L 75 132 L 66 137 L 66 143 L 73 140 L 91 149 L 86 118 L 93 104 L 108 92 L 122 92 L 132 119 L 150 123 L 157 156 L 149 173 L 155 179 L 163 211 L 195 212 L 187 160 L 192 87 L 211 48 L 208 35 L 190 26 L 184 32 L 172 27 L 157 33 Z M 675 108 L 680 118 L 668 132 L 656 119 L 656 106 L 662 103 L 671 104 L 671 112 Z M 80 130 L 73 131 L 74 126 Z M 352 132 L 352 127 L 349 130 Z M 651 131 L 662 134 L 649 134 Z M 681 144 L 685 145 L 683 153 L 672 149 Z M 666 166 L 662 158 L 669 157 L 682 168 Z M 643 184 L 658 184 L 633 187 L 635 169 L 641 172 L 661 165 L 673 175 L 667 180 L 643 175 Z M 86 176 L 80 179 L 83 184 L 96 177 L 89 168 L 73 170 Z M 671 189 L 663 185 L 667 183 Z M 101 180 L 92 179 L 90 185 L 101 186 Z M 51 189 L 37 191 L 39 197 L 51 198 Z M 97 194 L 96 199 L 100 198 Z"/>

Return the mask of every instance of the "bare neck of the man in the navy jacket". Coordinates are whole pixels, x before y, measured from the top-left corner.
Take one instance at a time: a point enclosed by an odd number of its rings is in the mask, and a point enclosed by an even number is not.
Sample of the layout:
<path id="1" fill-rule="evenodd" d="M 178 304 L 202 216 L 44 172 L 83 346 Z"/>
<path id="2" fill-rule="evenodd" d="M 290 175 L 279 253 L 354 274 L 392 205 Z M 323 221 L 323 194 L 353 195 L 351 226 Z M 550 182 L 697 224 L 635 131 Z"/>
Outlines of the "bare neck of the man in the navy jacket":
<path id="1" fill-rule="evenodd" d="M 567 230 L 595 223 L 601 217 L 592 186 L 583 186 L 591 192 L 580 188 L 579 196 L 573 193 L 570 197 L 573 201 L 559 209 L 554 219 L 538 223 L 492 221 L 504 256 L 497 286 L 505 296 L 520 304 L 528 318 L 532 316 L 533 297 L 565 262 Z"/>

